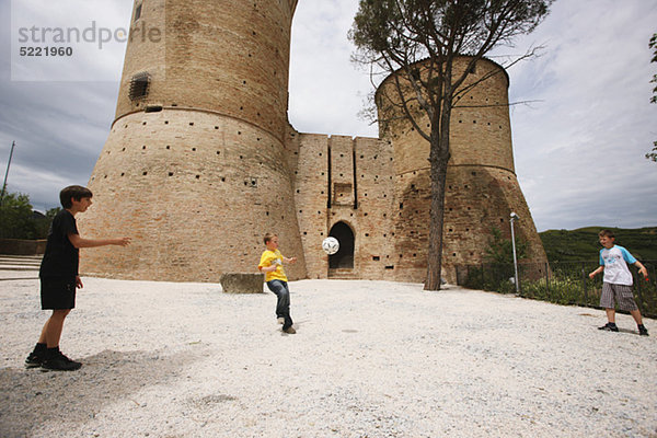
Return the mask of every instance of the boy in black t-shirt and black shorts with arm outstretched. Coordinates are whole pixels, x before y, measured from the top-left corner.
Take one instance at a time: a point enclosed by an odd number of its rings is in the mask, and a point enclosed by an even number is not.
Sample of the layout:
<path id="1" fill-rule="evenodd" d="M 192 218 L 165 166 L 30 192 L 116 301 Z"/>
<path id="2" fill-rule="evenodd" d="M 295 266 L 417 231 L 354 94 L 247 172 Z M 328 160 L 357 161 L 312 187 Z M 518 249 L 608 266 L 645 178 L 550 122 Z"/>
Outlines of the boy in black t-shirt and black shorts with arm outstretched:
<path id="1" fill-rule="evenodd" d="M 53 310 L 53 315 L 46 321 L 34 351 L 25 359 L 27 368 L 41 366 L 49 370 L 72 371 L 82 366 L 59 351 L 64 320 L 76 307 L 76 288 L 82 288 L 78 273 L 79 249 L 126 246 L 130 243 L 130 238 L 92 240 L 80 237 L 76 215 L 87 211 L 92 196 L 89 188 L 79 185 L 66 187 L 59 193 L 65 209 L 53 219 L 38 275 L 42 309 Z"/>

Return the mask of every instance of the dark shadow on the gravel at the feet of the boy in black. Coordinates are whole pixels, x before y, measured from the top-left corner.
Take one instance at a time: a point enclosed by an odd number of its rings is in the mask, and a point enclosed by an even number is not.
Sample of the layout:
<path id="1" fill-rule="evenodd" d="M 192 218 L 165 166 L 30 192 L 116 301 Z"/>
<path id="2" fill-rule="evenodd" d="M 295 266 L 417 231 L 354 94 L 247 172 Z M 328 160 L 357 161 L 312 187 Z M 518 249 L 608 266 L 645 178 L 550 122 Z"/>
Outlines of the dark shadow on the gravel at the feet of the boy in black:
<path id="1" fill-rule="evenodd" d="M 80 359 L 78 371 L 0 369 L 0 436 L 28 436 L 46 422 L 92 419 L 106 404 L 174 380 L 198 357 L 194 353 L 104 350 Z"/>

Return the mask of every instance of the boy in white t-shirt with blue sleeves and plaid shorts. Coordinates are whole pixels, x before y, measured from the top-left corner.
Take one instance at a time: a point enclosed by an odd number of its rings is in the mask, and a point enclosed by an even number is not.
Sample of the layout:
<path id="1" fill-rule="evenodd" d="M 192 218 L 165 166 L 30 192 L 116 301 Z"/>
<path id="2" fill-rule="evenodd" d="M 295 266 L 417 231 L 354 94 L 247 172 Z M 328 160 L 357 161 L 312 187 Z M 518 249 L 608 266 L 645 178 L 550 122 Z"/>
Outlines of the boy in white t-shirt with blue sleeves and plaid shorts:
<path id="1" fill-rule="evenodd" d="M 589 277 L 593 278 L 596 275 L 604 272 L 600 306 L 607 311 L 607 320 L 609 321 L 599 327 L 599 330 L 609 332 L 619 331 L 619 327 L 615 325 L 615 299 L 619 309 L 629 311 L 634 321 L 636 321 L 638 334 L 648 336 L 648 331 L 643 325 L 641 312 L 632 293 L 633 280 L 627 263 L 637 266 L 638 273 L 645 278 L 648 278 L 648 270 L 627 250 L 613 243 L 615 237 L 612 231 L 602 230 L 598 233 L 598 237 L 600 238 L 600 244 L 604 247 L 600 250 L 600 267 L 590 273 Z"/>

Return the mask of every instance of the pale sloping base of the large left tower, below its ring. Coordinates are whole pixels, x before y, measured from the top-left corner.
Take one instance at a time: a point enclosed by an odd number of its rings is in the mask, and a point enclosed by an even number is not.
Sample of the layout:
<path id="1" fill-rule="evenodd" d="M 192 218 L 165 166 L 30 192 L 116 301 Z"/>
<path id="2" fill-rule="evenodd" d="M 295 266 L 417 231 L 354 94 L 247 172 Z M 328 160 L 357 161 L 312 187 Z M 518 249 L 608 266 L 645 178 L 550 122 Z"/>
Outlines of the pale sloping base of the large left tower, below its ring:
<path id="1" fill-rule="evenodd" d="M 245 149 L 255 142 L 260 149 Z M 80 216 L 85 235 L 131 235 L 132 244 L 82 257 L 85 274 L 116 278 L 216 281 L 253 272 L 262 237 L 278 232 L 287 269 L 306 277 L 291 195 L 292 180 L 276 139 L 212 113 L 137 113 L 115 124 L 90 187 L 94 205 Z M 284 187 L 287 189 L 279 189 Z"/>

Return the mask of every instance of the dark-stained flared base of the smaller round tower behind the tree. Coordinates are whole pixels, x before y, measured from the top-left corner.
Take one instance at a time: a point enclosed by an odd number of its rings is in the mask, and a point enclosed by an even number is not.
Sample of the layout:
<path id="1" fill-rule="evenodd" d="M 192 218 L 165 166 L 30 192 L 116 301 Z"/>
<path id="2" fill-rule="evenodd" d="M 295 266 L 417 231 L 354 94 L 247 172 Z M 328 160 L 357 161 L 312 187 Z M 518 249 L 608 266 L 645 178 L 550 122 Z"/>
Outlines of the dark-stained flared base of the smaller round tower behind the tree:
<path id="1" fill-rule="evenodd" d="M 401 270 L 408 281 L 424 281 L 428 249 L 429 171 L 410 172 L 399 177 L 397 198 L 402 201 L 396 249 L 404 258 Z M 545 252 L 516 175 L 505 169 L 485 165 L 450 165 L 447 171 L 445 227 L 442 229 L 443 277 L 456 280 L 457 265 L 484 262 L 493 229 L 510 239 L 510 214 L 516 212 L 515 231 L 528 243 L 528 258 L 546 262 Z"/>

